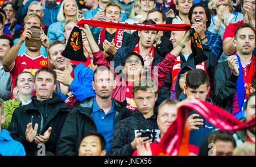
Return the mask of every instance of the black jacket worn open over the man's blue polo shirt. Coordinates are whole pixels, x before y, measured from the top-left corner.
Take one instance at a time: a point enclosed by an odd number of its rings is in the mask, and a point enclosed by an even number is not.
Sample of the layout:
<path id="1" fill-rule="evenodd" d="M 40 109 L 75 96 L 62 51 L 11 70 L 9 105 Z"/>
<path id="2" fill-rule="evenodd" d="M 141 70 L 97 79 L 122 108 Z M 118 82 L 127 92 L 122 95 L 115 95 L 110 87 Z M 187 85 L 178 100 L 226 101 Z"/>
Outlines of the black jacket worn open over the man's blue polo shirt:
<path id="1" fill-rule="evenodd" d="M 69 112 L 57 143 L 57 155 L 78 155 L 79 146 L 85 133 L 97 131 L 92 117 L 93 99 L 94 97 L 86 98 Z M 115 103 L 115 126 L 119 120 L 131 116 L 131 111 L 126 108 L 126 101 L 118 102 L 115 99 L 113 100 Z"/>

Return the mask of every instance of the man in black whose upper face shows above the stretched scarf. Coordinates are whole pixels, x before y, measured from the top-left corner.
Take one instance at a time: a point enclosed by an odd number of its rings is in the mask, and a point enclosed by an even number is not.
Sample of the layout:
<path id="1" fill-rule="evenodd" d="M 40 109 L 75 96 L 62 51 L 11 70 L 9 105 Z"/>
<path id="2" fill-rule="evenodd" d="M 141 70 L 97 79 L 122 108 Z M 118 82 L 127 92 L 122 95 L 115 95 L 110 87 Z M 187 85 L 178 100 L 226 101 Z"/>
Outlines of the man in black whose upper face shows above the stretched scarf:
<path id="1" fill-rule="evenodd" d="M 152 19 L 156 24 L 166 24 L 166 17 L 163 11 L 159 9 L 151 9 L 147 13 L 147 20 Z M 156 37 L 155 48 L 159 55 L 165 57 L 169 52 L 172 51 L 172 43 L 170 38 L 163 34 L 163 31 L 158 32 L 158 37 Z"/>

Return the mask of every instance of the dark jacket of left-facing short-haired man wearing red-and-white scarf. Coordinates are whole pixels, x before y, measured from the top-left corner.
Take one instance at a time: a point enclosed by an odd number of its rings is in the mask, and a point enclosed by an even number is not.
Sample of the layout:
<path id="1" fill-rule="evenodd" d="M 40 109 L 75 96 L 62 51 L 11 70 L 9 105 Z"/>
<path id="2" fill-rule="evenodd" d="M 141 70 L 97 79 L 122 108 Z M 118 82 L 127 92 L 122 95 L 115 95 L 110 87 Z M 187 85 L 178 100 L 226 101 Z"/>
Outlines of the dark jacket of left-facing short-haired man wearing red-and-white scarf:
<path id="1" fill-rule="evenodd" d="M 211 92 L 210 97 L 211 97 L 212 94 L 213 94 L 213 90 L 214 90 L 213 77 L 214 77 L 214 69 L 217 65 L 217 60 L 209 52 L 204 51 L 204 53 L 208 57 L 208 59 L 205 60 L 205 67 L 207 69 L 208 76 L 210 77 L 210 86 L 211 86 L 210 87 L 210 92 Z M 180 53 L 180 61 L 181 61 L 181 67 L 180 68 L 183 68 L 185 65 L 187 65 L 187 66 L 190 66 L 193 69 L 196 69 L 195 59 L 194 59 L 192 54 L 188 56 L 188 60 L 186 61 L 185 57 Z M 163 102 L 165 99 L 170 99 L 171 86 L 172 86 L 172 71 L 167 74 L 167 77 L 166 77 L 166 80 L 163 83 L 163 86 L 158 91 L 158 97 L 159 97 L 161 102 Z"/>

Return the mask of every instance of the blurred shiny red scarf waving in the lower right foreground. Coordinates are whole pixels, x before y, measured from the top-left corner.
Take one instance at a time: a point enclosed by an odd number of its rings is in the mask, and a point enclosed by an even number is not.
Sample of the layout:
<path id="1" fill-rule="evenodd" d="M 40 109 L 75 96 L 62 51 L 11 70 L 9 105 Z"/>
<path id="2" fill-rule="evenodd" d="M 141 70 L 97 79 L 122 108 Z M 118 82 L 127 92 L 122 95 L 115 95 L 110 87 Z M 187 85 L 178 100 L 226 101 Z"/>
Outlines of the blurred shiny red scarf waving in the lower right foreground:
<path id="1" fill-rule="evenodd" d="M 208 102 L 191 99 L 177 109 L 177 118 L 160 141 L 156 155 L 188 156 L 188 151 L 186 151 L 186 149 L 188 149 L 188 142 L 184 141 L 183 136 L 187 136 L 189 133 L 185 129 L 185 122 L 191 110 L 199 112 L 199 114 L 213 124 L 213 126 L 224 131 L 246 130 L 255 127 L 255 117 L 246 122 L 241 122 L 220 107 L 214 106 Z M 188 140 L 188 137 L 185 137 L 185 139 Z M 184 148 L 184 150 L 182 150 L 182 148 Z M 184 152 L 184 154 L 182 154 L 182 152 Z"/>

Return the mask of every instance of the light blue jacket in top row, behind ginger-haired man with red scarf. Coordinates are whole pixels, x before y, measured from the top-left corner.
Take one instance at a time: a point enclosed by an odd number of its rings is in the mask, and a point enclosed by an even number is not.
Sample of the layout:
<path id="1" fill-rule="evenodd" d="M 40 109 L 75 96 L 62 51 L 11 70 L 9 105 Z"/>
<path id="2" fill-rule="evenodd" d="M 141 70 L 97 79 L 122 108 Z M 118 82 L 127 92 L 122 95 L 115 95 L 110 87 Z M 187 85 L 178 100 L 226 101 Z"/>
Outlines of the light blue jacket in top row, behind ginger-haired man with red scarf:
<path id="1" fill-rule="evenodd" d="M 93 16 L 96 14 L 96 12 L 98 12 L 98 6 L 96 9 L 85 11 L 82 14 L 82 17 L 85 19 L 93 19 Z M 121 12 L 120 22 L 125 22 L 126 19 L 127 19 L 126 14 L 124 12 Z M 101 27 L 93 27 L 93 26 L 89 26 L 89 27 L 90 27 L 90 31 L 92 31 L 92 34 L 97 34 L 101 32 Z"/>

